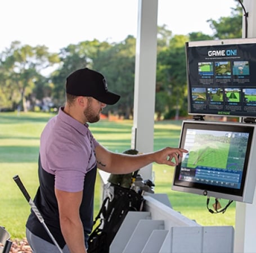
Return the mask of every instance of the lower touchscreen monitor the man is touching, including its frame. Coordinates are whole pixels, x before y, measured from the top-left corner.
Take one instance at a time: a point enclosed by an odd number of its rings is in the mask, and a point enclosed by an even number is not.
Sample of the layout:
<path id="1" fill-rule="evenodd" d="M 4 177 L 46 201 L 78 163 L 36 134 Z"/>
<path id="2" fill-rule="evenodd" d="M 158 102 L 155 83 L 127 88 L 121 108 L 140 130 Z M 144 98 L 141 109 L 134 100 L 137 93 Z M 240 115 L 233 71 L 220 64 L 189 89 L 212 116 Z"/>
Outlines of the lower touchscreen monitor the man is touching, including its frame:
<path id="1" fill-rule="evenodd" d="M 185 120 L 172 189 L 252 203 L 256 183 L 256 124 Z"/>

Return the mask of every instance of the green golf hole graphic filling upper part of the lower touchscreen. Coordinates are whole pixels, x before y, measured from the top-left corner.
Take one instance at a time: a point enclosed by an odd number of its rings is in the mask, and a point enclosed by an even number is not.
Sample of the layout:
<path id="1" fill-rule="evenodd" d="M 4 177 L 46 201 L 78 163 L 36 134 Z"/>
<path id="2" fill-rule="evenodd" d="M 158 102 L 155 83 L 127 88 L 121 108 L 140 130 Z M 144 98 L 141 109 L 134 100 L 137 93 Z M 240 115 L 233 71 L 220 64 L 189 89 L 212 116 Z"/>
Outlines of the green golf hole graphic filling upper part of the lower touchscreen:
<path id="1" fill-rule="evenodd" d="M 189 155 L 185 156 L 182 166 L 242 170 L 247 141 L 240 133 L 189 131 L 185 142 Z"/>

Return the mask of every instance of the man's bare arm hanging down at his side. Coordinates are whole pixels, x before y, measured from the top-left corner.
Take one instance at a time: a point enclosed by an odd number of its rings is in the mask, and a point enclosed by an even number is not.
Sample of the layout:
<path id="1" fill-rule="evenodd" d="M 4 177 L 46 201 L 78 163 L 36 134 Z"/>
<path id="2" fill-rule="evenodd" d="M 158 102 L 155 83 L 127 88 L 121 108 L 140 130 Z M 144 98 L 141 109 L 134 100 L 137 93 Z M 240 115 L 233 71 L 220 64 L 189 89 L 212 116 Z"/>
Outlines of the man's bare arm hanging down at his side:
<path id="1" fill-rule="evenodd" d="M 65 192 L 55 188 L 59 205 L 60 227 L 71 253 L 86 253 L 83 225 L 80 220 L 79 207 L 83 192 Z"/>

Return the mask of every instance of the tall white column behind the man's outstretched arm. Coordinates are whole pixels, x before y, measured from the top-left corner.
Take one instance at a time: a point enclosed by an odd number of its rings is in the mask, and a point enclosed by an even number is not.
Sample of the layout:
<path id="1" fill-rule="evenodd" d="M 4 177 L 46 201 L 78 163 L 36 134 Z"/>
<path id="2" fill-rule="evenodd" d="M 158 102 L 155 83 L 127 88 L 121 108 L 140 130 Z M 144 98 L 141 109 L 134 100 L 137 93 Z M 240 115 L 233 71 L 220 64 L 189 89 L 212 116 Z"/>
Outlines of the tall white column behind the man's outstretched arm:
<path id="1" fill-rule="evenodd" d="M 154 149 L 157 28 L 158 0 L 139 0 L 132 147 L 142 153 Z M 152 179 L 152 165 L 140 174 L 143 179 Z"/>

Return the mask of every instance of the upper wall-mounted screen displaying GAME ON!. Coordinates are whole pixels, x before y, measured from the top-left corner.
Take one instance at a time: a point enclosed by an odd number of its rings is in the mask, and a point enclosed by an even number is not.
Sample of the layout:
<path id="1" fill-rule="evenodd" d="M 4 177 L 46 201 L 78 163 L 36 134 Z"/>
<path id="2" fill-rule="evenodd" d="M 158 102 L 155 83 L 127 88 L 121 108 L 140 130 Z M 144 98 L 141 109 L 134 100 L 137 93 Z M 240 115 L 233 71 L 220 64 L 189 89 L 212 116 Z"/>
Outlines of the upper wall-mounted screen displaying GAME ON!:
<path id="1" fill-rule="evenodd" d="M 256 117 L 256 39 L 186 43 L 188 114 Z"/>

